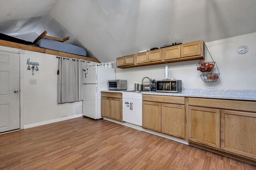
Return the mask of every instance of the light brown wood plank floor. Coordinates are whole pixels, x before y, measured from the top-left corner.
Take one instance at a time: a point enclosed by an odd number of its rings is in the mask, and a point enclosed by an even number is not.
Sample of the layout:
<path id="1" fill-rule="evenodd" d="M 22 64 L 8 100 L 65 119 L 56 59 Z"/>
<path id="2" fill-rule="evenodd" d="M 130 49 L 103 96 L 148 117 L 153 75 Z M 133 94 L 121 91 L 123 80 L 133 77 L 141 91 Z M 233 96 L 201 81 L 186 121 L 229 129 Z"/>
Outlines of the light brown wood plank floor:
<path id="1" fill-rule="evenodd" d="M 244 169 L 225 156 L 79 117 L 0 135 L 0 169 Z"/>

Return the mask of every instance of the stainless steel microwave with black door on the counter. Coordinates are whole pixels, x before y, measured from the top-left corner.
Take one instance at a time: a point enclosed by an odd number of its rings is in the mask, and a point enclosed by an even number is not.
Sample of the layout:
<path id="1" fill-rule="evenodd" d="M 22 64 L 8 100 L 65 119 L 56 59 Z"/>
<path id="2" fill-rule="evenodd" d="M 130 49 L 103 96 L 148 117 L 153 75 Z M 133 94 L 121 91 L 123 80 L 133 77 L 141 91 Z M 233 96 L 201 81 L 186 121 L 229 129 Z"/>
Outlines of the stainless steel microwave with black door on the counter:
<path id="1" fill-rule="evenodd" d="M 156 92 L 181 92 L 181 80 L 157 80 Z"/>

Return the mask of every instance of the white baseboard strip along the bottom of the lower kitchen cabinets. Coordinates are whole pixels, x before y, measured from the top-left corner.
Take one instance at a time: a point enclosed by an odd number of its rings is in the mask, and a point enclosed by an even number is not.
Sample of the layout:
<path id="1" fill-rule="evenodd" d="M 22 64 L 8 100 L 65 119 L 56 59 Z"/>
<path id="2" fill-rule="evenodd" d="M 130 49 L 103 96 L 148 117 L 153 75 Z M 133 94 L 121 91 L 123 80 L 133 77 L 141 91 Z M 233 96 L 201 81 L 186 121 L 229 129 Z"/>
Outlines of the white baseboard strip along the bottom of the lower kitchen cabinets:
<path id="1" fill-rule="evenodd" d="M 160 136 L 160 137 L 164 137 L 166 139 L 170 139 L 172 141 L 176 141 L 176 142 L 179 142 L 179 143 L 183 143 L 185 145 L 189 145 L 188 144 L 188 141 L 185 141 L 185 140 L 182 140 L 182 139 L 179 139 L 179 138 L 176 138 L 176 137 L 172 137 L 172 136 L 169 136 L 169 135 L 164 135 L 162 133 L 158 133 L 158 132 L 155 132 L 155 131 L 152 131 L 152 130 L 148 130 L 148 129 L 144 129 L 142 128 L 141 126 L 138 126 L 138 125 L 133 125 L 131 123 L 126 123 L 126 122 L 120 122 L 120 121 L 116 121 L 116 120 L 113 120 L 113 119 L 109 119 L 109 118 L 106 118 L 106 117 L 103 117 L 104 120 L 107 120 L 107 121 L 112 121 L 114 123 L 118 123 L 120 125 L 124 125 L 124 126 L 128 126 L 128 127 L 131 127 L 133 129 L 137 129 L 137 130 L 140 130 L 140 131 L 144 131 L 144 132 L 147 132 L 147 133 L 150 133 L 152 135 L 156 135 L 156 136 Z"/>

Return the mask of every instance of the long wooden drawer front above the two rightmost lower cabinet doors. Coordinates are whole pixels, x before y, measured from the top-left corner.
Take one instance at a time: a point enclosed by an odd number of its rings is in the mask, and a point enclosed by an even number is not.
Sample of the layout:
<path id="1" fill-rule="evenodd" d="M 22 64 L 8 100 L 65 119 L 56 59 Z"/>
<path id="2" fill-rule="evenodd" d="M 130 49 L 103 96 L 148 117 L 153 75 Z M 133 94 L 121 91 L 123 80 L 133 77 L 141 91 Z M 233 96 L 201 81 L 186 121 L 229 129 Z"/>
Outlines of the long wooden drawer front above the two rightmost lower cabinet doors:
<path id="1" fill-rule="evenodd" d="M 241 100 L 224 100 L 208 98 L 188 98 L 189 106 L 211 107 L 218 109 L 230 109 L 256 112 L 256 102 Z"/>

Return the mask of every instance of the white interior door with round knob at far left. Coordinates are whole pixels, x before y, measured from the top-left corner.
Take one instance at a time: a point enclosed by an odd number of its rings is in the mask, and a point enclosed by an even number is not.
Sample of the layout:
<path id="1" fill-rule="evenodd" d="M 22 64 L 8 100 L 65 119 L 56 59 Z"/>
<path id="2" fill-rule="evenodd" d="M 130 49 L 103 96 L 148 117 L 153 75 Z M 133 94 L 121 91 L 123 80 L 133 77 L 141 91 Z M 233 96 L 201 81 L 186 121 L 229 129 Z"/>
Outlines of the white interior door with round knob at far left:
<path id="1" fill-rule="evenodd" d="M 20 129 L 20 54 L 0 51 L 0 133 Z"/>

